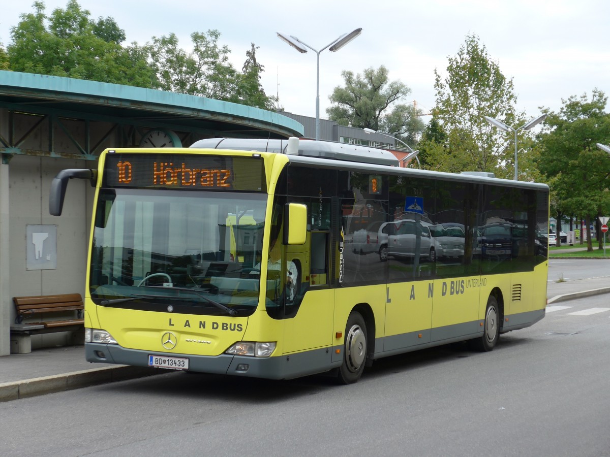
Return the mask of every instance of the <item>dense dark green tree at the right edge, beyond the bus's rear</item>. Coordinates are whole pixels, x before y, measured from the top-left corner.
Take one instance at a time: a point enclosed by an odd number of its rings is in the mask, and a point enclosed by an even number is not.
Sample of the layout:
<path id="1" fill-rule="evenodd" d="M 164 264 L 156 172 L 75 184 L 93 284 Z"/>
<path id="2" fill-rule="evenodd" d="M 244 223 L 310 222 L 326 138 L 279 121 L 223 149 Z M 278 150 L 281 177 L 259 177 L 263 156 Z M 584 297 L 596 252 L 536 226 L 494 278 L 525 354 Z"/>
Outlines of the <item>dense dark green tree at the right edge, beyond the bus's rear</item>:
<path id="1" fill-rule="evenodd" d="M 565 214 L 583 216 L 589 230 L 597 216 L 610 213 L 610 156 L 596 146 L 610 140 L 607 102 L 608 97 L 595 89 L 590 100 L 586 94 L 562 100 L 558 113 L 543 110 L 548 116 L 537 165 L 551 188 L 558 232 Z M 587 245 L 593 249 L 590 236 Z"/>

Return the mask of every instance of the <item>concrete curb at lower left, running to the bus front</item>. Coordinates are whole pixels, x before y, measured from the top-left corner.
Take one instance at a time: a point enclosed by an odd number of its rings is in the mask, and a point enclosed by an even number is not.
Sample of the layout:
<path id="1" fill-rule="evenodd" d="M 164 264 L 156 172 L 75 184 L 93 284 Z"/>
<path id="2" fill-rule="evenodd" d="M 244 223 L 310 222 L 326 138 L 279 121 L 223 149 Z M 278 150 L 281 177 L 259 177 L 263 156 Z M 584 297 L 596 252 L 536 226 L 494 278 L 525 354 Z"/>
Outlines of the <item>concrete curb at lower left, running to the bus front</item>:
<path id="1" fill-rule="evenodd" d="M 142 378 L 164 372 L 165 370 L 157 368 L 118 365 L 2 383 L 0 384 L 0 403 L 54 392 L 71 391 L 96 384 Z"/>

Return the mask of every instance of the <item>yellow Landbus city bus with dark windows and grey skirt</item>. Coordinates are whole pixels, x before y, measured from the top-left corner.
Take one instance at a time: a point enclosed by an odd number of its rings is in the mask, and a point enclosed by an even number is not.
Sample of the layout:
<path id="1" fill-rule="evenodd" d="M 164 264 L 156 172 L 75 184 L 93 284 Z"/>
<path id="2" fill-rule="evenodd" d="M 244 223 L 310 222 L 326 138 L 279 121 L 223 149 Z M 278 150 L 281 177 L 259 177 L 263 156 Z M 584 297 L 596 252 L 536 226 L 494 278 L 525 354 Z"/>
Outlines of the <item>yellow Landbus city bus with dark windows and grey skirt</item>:
<path id="1" fill-rule="evenodd" d="M 397 165 L 364 146 L 212 138 L 60 172 L 51 214 L 70 178 L 96 188 L 87 360 L 347 384 L 376 359 L 489 351 L 542 319 L 548 187 Z"/>

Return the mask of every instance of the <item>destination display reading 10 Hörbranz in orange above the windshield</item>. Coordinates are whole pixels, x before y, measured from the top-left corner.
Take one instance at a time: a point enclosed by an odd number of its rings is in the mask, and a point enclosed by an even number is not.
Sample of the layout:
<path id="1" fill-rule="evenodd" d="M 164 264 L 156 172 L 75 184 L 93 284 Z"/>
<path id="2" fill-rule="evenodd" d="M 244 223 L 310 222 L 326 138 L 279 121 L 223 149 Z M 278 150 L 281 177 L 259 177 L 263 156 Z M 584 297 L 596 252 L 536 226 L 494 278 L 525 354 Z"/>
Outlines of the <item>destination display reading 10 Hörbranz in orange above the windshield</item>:
<path id="1" fill-rule="evenodd" d="M 104 186 L 264 192 L 260 157 L 109 153 Z"/>

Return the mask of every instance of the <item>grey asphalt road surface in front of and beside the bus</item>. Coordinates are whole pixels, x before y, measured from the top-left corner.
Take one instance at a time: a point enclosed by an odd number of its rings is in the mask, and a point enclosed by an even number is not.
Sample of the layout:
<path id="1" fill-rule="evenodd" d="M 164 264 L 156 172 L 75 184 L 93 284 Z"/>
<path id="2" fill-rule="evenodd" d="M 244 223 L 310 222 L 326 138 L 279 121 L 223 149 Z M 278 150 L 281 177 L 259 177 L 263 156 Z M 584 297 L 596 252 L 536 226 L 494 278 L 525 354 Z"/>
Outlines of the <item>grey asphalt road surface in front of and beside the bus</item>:
<path id="1" fill-rule="evenodd" d="M 562 305 L 562 306 L 559 306 Z M 490 353 L 453 344 L 361 381 L 171 372 L 0 403 L 4 456 L 610 455 L 610 303 L 550 306 Z M 567 307 L 566 307 L 567 306 Z"/>

